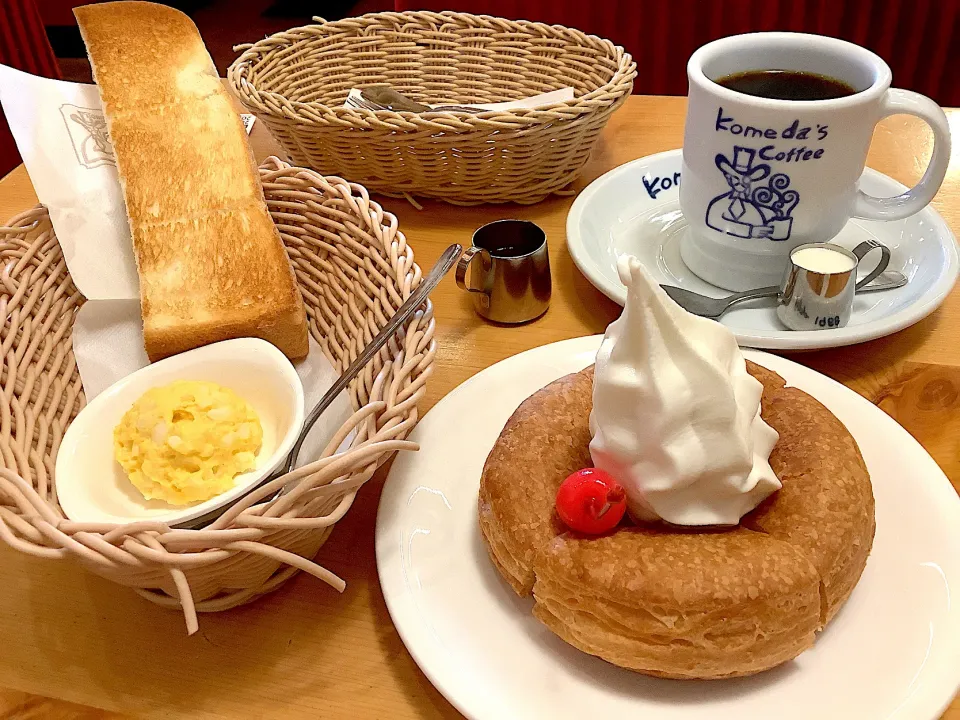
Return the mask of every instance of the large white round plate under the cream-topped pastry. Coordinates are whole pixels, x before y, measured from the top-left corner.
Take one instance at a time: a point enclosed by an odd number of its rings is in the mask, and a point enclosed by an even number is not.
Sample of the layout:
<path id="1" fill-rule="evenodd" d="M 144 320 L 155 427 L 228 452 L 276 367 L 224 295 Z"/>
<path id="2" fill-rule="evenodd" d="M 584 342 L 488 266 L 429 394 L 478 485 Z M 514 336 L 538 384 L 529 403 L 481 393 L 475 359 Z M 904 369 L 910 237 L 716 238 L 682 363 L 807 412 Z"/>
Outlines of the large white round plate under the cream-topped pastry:
<path id="1" fill-rule="evenodd" d="M 394 462 L 377 567 L 390 615 L 430 681 L 475 720 L 939 718 L 960 680 L 960 497 L 882 411 L 763 353 L 747 356 L 833 411 L 873 478 L 873 553 L 813 649 L 749 678 L 659 680 L 581 653 L 533 618 L 532 601 L 500 578 L 480 538 L 480 471 L 517 405 L 592 363 L 599 344 L 567 340 L 484 370 L 420 421 L 410 438 L 420 452 Z"/>

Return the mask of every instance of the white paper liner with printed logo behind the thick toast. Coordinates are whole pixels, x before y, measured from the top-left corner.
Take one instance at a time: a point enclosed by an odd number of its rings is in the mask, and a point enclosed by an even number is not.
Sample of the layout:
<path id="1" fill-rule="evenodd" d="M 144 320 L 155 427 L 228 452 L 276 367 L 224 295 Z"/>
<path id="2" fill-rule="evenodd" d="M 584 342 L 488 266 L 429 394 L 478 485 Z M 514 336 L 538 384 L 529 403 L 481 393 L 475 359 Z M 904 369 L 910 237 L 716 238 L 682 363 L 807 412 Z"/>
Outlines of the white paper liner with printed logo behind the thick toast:
<path id="1" fill-rule="evenodd" d="M 0 65 L 0 104 L 70 275 L 87 298 L 74 321 L 73 352 L 92 400 L 149 363 L 133 243 L 100 96 L 95 85 Z M 249 134 L 254 117 L 241 117 Z M 309 412 L 337 372 L 313 338 L 307 358 L 294 366 Z M 307 437 L 299 464 L 316 459 L 352 413 L 341 393 Z"/>

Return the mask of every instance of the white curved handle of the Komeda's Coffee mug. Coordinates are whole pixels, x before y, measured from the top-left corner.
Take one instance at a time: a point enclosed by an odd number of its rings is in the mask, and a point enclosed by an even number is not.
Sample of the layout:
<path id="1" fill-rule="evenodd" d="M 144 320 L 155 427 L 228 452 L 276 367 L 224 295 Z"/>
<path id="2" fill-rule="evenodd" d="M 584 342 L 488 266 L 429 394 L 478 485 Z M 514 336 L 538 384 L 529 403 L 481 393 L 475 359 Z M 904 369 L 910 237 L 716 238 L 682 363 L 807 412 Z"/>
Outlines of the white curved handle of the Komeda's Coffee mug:
<path id="1" fill-rule="evenodd" d="M 890 115 L 915 115 L 933 130 L 933 154 L 920 182 L 892 198 L 878 198 L 857 191 L 853 215 L 867 220 L 902 220 L 920 212 L 937 194 L 950 162 L 950 125 L 943 110 L 933 100 L 910 90 L 888 90 L 880 108 L 879 120 Z"/>

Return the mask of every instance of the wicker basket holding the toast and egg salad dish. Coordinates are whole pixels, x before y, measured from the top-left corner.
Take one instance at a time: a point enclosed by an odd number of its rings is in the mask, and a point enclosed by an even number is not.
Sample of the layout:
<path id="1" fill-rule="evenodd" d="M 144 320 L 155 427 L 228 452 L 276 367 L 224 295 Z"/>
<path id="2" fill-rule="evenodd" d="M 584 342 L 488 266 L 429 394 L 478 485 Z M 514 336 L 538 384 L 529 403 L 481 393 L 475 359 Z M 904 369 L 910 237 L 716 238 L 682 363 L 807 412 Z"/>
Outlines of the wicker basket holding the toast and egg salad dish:
<path id="1" fill-rule="evenodd" d="M 276 158 L 260 177 L 310 332 L 342 370 L 419 284 L 413 251 L 396 217 L 359 185 Z M 318 461 L 241 499 L 204 530 L 173 530 L 156 522 L 72 522 L 57 504 L 57 448 L 84 405 L 71 344 L 83 301 L 43 207 L 0 227 L 0 538 L 180 606 L 189 632 L 197 629 L 196 611 L 249 602 L 298 570 L 342 590 L 343 581 L 311 558 L 374 471 L 397 450 L 416 449 L 405 438 L 436 352 L 429 302 L 351 385 L 356 412 Z M 354 429 L 349 449 L 335 455 Z M 295 490 L 264 502 L 294 475 L 304 476 Z"/>

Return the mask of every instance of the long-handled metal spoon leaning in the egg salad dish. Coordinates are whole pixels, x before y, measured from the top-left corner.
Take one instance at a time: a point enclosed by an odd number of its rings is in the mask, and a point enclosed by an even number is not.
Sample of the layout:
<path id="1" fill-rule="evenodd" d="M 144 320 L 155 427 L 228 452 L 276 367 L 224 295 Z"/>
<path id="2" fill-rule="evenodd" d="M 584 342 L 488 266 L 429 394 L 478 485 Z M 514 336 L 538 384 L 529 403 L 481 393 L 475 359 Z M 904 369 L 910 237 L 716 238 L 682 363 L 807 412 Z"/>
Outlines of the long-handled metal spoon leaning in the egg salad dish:
<path id="1" fill-rule="evenodd" d="M 417 289 L 410 293 L 410 297 L 397 309 L 393 314 L 393 317 L 383 326 L 383 329 L 374 335 L 373 340 L 371 340 L 367 346 L 363 349 L 357 359 L 354 360 L 343 371 L 343 374 L 337 378 L 336 382 L 330 386 L 330 389 L 324 393 L 323 397 L 320 398 L 313 410 L 310 411 L 310 414 L 307 415 L 307 419 L 303 423 L 303 429 L 300 430 L 300 434 L 297 436 L 297 441 L 293 444 L 293 449 L 290 451 L 290 454 L 287 455 L 286 461 L 280 467 L 280 469 L 274 471 L 254 487 L 250 488 L 250 491 L 246 493 L 247 495 L 250 492 L 253 492 L 259 487 L 266 485 L 269 482 L 273 482 L 278 477 L 286 475 L 291 472 L 297 464 L 297 456 L 300 454 L 300 448 L 303 446 L 303 441 L 306 439 L 307 435 L 310 432 L 310 429 L 313 427 L 314 423 L 323 415 L 323 412 L 330 407 L 330 404 L 336 399 L 337 395 L 343 392 L 347 385 L 350 384 L 350 381 L 353 380 L 357 375 L 360 374 L 360 371 L 366 366 L 368 362 L 373 359 L 373 356 L 376 355 L 380 348 L 382 348 L 386 342 L 393 337 L 397 330 L 400 329 L 400 326 L 403 325 L 404 321 L 407 320 L 413 313 L 424 303 L 427 299 L 427 295 L 437 286 L 437 284 L 443 279 L 443 277 L 450 272 L 450 268 L 454 266 L 457 260 L 460 258 L 460 254 L 463 252 L 463 246 L 454 244 L 448 247 L 443 251 L 443 254 L 440 256 L 440 259 L 430 268 L 430 272 L 420 281 L 420 284 L 417 286 Z M 280 491 L 282 492 L 282 491 Z M 270 500 L 276 499 L 280 495 L 278 492 Z M 264 502 L 269 502 L 270 500 L 265 500 Z M 201 515 L 198 518 L 193 520 L 188 520 L 174 527 L 196 530 L 202 527 L 206 527 L 218 517 L 223 515 L 228 509 L 229 505 L 226 507 L 219 507 L 214 510 L 211 510 L 205 515 Z"/>

